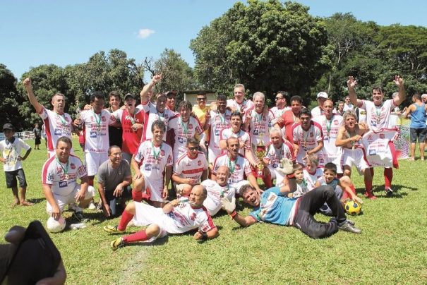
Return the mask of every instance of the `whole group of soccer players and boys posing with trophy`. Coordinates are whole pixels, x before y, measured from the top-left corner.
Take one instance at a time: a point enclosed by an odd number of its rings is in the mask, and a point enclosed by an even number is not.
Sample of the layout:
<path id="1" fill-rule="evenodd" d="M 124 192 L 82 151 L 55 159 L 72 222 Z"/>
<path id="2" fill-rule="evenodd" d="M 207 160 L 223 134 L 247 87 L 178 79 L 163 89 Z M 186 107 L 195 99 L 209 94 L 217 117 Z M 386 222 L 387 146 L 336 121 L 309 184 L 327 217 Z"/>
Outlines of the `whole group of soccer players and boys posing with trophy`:
<path id="1" fill-rule="evenodd" d="M 108 109 L 104 95 L 94 92 L 90 105 L 74 120 L 64 113 L 64 95 L 52 97 L 51 111 L 37 101 L 30 78 L 23 81 L 46 133 L 49 159 L 42 167 L 42 189 L 49 230 L 64 229 L 66 205 L 73 217 L 85 220 L 83 208 L 93 201 L 97 175 L 99 209 L 105 217 L 121 214 L 119 225 L 104 226 L 104 231 L 121 233 L 130 223 L 148 226 L 116 238 L 113 250 L 193 229 L 198 229 L 196 240 L 215 238 L 219 232 L 211 217 L 220 209 L 241 226 L 259 221 L 296 226 L 312 238 L 339 229 L 361 233 L 343 207 L 346 200 L 362 203 L 351 183 L 351 167 L 364 176 L 366 198 L 375 199 L 373 168 L 361 140 L 370 130 L 388 128 L 392 109 L 405 99 L 402 78 L 395 76 L 398 92 L 393 99 L 384 100 L 381 88 L 375 87 L 370 101 L 356 97 L 356 80 L 349 77 L 344 104 L 335 109 L 327 93 L 320 92 L 318 107 L 311 111 L 301 97 L 289 99 L 287 92 L 277 92 L 276 106 L 269 109 L 262 92 L 246 99 L 241 84 L 234 87 L 234 99 L 217 95 L 207 107 L 206 94 L 200 92 L 195 106 L 185 100 L 176 106 L 174 90 L 153 95 L 160 80 L 155 75 L 140 97 L 126 94 L 123 107 L 117 92 L 109 94 Z M 425 129 L 425 107 L 423 114 Z M 14 204 L 31 205 L 25 200 L 21 163 L 31 148 L 14 137 L 10 123 L 3 131 L 0 159 L 7 187 L 13 190 Z M 80 135 L 85 164 L 73 155 L 72 132 Z M 423 142 L 425 132 L 417 135 Z M 385 168 L 384 176 L 385 193 L 392 195 L 392 168 Z M 263 179 L 264 190 L 257 179 Z M 248 216 L 236 212 L 236 197 L 254 208 Z M 330 221 L 316 221 L 317 212 Z"/>

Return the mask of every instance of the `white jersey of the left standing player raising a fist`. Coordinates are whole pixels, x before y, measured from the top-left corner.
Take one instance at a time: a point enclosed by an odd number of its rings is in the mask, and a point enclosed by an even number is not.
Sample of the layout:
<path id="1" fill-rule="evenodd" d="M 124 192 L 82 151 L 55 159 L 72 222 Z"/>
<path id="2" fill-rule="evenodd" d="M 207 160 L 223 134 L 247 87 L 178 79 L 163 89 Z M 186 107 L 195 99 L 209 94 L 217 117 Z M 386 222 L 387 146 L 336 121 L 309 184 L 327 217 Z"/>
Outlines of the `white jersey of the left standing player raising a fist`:
<path id="1" fill-rule="evenodd" d="M 40 118 L 44 123 L 46 131 L 47 150 L 53 151 L 56 148 L 56 141 L 61 137 L 67 137 L 71 140 L 71 131 L 73 131 L 73 119 L 67 113 L 59 115 L 56 111 L 42 108 Z"/>

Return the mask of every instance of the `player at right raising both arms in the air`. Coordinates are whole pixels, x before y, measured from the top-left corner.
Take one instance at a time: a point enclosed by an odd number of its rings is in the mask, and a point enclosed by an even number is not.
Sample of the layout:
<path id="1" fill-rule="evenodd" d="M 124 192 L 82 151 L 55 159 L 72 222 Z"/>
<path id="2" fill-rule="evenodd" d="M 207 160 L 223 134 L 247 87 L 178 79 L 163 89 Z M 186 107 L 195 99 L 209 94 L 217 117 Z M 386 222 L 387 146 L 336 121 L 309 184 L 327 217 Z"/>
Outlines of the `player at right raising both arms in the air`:
<path id="1" fill-rule="evenodd" d="M 390 125 L 391 111 L 404 102 L 406 94 L 404 90 L 403 78 L 401 78 L 399 75 L 395 75 L 395 84 L 397 85 L 399 92 L 394 99 L 388 99 L 384 102 L 383 89 L 380 86 L 377 86 L 373 87 L 372 89 L 373 101 L 368 101 L 357 99 L 355 90 L 357 81 L 354 80 L 353 76 L 350 76 L 349 80 L 347 80 L 351 104 L 354 104 L 360 109 L 366 110 L 366 121 L 371 131 L 380 131 L 383 128 L 387 128 Z M 373 168 L 371 168 L 371 176 L 373 176 Z M 393 169 L 391 167 L 384 169 L 384 179 L 385 194 L 392 195 Z"/>

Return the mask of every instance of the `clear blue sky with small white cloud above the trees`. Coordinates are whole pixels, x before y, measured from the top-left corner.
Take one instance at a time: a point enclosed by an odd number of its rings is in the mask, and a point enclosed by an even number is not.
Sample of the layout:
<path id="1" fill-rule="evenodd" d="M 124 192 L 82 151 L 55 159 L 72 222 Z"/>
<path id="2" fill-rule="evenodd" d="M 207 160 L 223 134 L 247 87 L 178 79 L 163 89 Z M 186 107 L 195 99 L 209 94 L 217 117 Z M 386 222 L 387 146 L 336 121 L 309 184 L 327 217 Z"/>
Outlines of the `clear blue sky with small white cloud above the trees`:
<path id="1" fill-rule="evenodd" d="M 190 66 L 188 47 L 198 31 L 221 16 L 231 0 L 0 0 L 0 63 L 19 79 L 44 63 L 83 63 L 97 51 L 121 49 L 128 57 L 157 59 L 165 48 Z M 427 1 L 301 0 L 313 16 L 351 12 L 379 25 L 427 26 Z"/>

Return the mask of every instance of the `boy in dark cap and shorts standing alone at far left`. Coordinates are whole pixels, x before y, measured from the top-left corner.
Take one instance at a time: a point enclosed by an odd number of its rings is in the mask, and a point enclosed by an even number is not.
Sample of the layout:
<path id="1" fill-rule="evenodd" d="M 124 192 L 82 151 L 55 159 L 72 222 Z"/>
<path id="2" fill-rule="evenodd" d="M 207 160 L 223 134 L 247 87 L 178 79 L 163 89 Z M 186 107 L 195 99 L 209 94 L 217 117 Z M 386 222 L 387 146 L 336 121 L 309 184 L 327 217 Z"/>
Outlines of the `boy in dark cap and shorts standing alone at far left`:
<path id="1" fill-rule="evenodd" d="M 25 192 L 27 191 L 27 181 L 25 180 L 25 174 L 21 161 L 28 157 L 31 152 L 30 145 L 26 144 L 20 138 L 15 138 L 15 132 L 11 123 L 5 123 L 3 126 L 3 132 L 6 140 L 0 142 L 0 161 L 3 162 L 4 174 L 6 176 L 6 187 L 12 188 L 13 193 L 13 204 L 16 205 L 32 206 L 34 204 L 25 201 Z M 20 150 L 24 149 L 25 155 L 20 156 Z M 19 180 L 19 196 L 16 178 Z"/>

